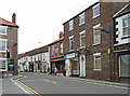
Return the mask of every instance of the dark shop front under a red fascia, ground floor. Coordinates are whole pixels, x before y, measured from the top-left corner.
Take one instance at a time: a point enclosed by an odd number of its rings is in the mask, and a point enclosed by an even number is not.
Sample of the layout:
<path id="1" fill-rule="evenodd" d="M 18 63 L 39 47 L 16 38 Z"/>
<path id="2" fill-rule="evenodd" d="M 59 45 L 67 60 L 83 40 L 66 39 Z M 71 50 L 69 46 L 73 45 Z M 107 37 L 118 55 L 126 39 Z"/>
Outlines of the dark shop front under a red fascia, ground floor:
<path id="1" fill-rule="evenodd" d="M 64 61 L 64 57 L 60 57 L 60 58 L 52 58 L 51 59 L 51 72 L 53 71 L 53 69 L 56 67 L 57 69 L 57 74 L 63 74 L 63 69 L 65 67 L 65 61 Z"/>

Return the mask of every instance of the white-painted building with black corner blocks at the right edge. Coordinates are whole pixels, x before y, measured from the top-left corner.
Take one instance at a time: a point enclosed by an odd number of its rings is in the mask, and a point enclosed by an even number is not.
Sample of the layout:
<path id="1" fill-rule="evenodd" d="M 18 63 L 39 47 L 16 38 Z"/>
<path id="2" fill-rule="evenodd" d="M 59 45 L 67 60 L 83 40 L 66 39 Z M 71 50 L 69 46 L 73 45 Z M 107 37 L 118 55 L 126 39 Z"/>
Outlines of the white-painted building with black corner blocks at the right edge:
<path id="1" fill-rule="evenodd" d="M 114 76 L 118 81 L 130 78 L 130 2 L 114 15 Z"/>

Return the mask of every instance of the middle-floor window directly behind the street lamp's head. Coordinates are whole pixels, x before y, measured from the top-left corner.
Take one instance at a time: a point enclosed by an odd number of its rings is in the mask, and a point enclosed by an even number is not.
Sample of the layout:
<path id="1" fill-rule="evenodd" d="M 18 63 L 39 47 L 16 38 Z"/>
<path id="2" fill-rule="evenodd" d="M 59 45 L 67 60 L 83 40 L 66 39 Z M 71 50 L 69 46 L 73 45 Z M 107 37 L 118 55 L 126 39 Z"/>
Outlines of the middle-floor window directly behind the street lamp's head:
<path id="1" fill-rule="evenodd" d="M 100 27 L 101 24 L 93 27 L 93 44 L 100 44 L 101 43 L 101 31 L 95 30 L 96 27 Z"/>

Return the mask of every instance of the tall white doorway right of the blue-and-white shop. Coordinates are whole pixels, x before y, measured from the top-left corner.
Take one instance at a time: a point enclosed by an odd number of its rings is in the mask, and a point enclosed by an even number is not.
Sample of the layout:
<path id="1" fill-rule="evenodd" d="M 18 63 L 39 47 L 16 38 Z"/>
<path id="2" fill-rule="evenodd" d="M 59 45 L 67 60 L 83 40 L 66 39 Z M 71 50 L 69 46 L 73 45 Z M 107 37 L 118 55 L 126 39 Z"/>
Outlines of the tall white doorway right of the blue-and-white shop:
<path id="1" fill-rule="evenodd" d="M 86 77 L 86 56 L 80 55 L 80 77 Z"/>

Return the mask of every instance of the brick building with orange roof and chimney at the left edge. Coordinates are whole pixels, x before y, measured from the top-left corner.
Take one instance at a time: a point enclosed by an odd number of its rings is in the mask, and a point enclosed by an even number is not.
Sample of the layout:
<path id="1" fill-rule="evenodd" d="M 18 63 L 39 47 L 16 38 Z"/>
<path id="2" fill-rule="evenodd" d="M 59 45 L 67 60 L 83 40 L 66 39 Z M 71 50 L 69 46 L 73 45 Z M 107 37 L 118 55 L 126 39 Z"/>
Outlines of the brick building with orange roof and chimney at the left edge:
<path id="1" fill-rule="evenodd" d="M 16 14 L 12 15 L 12 23 L 0 17 L 0 70 L 17 74 L 17 29 Z M 6 60 L 6 50 L 10 59 Z M 9 66 L 8 66 L 9 65 Z"/>

